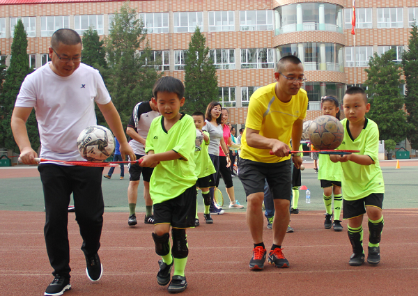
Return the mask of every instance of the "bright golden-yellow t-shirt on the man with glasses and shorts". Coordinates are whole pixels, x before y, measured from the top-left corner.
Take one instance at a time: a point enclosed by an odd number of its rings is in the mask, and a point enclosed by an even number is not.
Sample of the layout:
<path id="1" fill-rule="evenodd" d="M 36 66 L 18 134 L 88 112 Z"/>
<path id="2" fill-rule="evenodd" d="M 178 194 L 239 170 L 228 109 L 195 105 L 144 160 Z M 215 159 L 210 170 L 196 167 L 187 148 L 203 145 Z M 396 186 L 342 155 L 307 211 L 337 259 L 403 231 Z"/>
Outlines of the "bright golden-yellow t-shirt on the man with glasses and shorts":
<path id="1" fill-rule="evenodd" d="M 260 131 L 261 136 L 279 139 L 290 146 L 293 123 L 303 120 L 307 115 L 308 96 L 302 88 L 293 95 L 289 102 L 281 102 L 274 91 L 276 83 L 258 88 L 249 100 L 247 121 L 245 127 Z M 241 139 L 240 157 L 254 162 L 283 162 L 288 157 L 270 155 L 268 149 L 258 149 L 247 145 L 247 128 Z"/>

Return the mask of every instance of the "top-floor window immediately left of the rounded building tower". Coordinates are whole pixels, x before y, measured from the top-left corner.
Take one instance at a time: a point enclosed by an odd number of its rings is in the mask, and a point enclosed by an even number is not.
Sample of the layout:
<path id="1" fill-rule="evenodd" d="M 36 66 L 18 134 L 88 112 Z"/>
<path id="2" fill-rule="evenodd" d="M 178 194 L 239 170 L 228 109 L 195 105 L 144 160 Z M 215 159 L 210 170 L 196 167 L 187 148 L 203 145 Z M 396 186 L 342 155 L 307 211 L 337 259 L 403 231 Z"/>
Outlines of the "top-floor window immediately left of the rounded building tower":
<path id="1" fill-rule="evenodd" d="M 273 10 L 240 11 L 240 31 L 266 31 L 273 29 Z"/>

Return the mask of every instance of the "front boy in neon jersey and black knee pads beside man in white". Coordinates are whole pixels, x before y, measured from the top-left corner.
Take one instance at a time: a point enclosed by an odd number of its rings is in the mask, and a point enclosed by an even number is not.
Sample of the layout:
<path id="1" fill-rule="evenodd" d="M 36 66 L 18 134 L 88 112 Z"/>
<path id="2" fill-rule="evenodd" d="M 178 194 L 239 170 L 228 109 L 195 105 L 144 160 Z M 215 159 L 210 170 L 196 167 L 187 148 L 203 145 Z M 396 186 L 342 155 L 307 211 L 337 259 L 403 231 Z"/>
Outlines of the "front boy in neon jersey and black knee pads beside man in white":
<path id="1" fill-rule="evenodd" d="M 196 127 L 192 116 L 179 112 L 185 103 L 184 91 L 183 83 L 173 77 L 162 77 L 155 83 L 153 100 L 162 116 L 151 123 L 146 138 L 147 155 L 141 157 L 141 166 L 155 167 L 150 178 L 150 196 L 154 205 L 155 252 L 162 256 L 157 283 L 161 286 L 170 283 L 169 293 L 187 288 L 185 265 L 189 249 L 185 228 L 194 227 L 196 215 Z"/>

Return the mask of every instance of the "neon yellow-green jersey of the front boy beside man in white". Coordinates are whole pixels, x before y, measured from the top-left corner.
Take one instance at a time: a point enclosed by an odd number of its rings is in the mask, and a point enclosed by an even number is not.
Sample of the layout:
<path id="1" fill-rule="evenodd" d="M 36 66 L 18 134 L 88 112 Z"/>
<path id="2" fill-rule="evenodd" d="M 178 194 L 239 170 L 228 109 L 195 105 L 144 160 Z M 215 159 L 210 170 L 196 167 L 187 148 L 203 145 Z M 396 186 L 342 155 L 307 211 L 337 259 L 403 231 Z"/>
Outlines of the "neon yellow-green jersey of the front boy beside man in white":
<path id="1" fill-rule="evenodd" d="M 183 114 L 168 132 L 164 128 L 163 116 L 155 118 L 151 123 L 146 137 L 146 153 L 150 150 L 155 154 L 174 150 L 181 156 L 155 166 L 150 178 L 150 196 L 154 204 L 176 198 L 196 184 L 195 141 L 196 127 L 192 116 Z"/>

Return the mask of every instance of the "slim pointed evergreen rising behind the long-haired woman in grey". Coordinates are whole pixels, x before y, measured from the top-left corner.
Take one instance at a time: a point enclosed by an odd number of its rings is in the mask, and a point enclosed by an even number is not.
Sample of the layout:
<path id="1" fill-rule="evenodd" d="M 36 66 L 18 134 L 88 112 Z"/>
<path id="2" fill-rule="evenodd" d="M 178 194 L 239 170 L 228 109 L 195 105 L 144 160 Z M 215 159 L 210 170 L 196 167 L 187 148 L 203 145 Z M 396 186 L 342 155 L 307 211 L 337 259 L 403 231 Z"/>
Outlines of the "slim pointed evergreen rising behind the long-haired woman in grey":
<path id="1" fill-rule="evenodd" d="M 196 28 L 185 53 L 185 98 L 183 110 L 205 113 L 212 101 L 219 100 L 216 68 L 209 59 L 209 47 L 199 27 Z"/>

